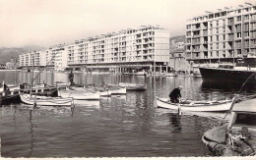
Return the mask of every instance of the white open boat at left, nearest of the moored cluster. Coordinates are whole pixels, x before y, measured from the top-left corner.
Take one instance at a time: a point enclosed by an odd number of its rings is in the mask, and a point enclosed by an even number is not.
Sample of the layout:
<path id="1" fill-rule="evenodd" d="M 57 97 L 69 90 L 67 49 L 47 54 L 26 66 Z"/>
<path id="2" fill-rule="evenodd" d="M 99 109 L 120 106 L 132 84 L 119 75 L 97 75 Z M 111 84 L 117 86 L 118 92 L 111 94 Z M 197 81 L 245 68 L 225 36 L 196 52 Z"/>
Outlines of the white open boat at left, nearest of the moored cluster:
<path id="1" fill-rule="evenodd" d="M 20 94 L 21 100 L 29 105 L 39 106 L 71 106 L 73 105 L 73 98 L 61 98 L 61 97 L 46 97 L 35 96 L 30 94 Z"/>

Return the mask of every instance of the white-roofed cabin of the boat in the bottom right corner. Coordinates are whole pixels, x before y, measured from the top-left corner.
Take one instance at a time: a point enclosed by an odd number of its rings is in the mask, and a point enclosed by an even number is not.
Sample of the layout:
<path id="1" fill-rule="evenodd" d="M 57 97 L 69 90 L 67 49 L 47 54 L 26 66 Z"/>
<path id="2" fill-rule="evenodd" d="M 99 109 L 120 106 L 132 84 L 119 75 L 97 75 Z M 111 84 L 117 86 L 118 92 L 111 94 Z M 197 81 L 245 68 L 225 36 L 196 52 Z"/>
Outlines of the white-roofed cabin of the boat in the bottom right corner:
<path id="1" fill-rule="evenodd" d="M 256 99 L 234 105 L 227 126 L 226 141 L 242 138 L 256 147 Z M 228 141 L 230 142 L 230 141 Z"/>

